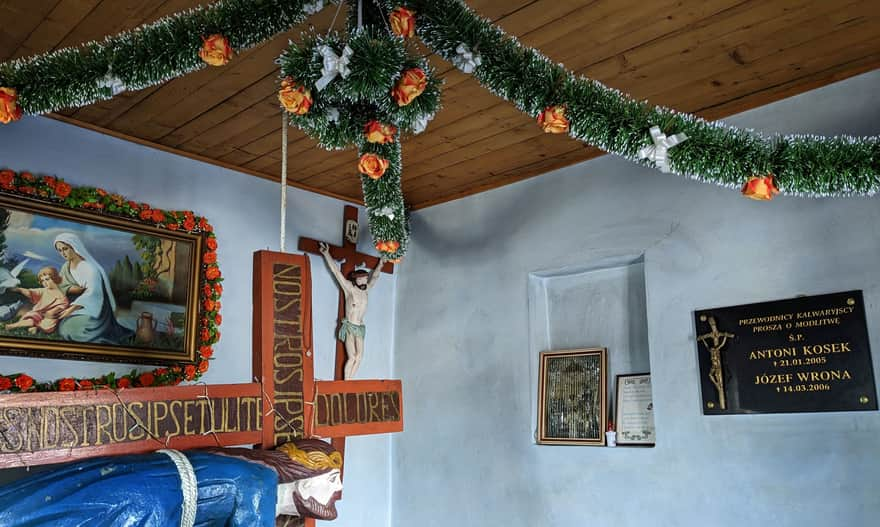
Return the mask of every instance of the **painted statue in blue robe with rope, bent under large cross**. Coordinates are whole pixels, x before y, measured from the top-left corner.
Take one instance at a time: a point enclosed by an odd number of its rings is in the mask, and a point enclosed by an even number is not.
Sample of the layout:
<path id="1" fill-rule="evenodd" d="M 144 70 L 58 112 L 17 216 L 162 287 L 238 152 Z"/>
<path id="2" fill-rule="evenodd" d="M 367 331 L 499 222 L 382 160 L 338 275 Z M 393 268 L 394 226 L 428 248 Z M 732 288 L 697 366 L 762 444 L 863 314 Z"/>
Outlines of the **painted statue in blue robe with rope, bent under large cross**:
<path id="1" fill-rule="evenodd" d="M 336 518 L 342 455 L 302 439 L 88 459 L 0 486 L 4 527 L 271 527 Z"/>

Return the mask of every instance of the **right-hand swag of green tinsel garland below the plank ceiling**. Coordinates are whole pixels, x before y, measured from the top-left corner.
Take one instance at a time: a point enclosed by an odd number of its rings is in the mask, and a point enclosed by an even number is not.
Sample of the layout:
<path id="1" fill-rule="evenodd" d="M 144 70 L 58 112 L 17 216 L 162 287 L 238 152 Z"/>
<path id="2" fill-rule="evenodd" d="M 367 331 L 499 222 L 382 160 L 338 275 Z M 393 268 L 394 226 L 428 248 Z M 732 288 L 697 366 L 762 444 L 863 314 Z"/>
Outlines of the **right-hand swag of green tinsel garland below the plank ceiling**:
<path id="1" fill-rule="evenodd" d="M 569 134 L 633 162 L 653 144 L 648 130 L 684 133 L 688 140 L 668 152 L 671 172 L 740 188 L 752 176 L 773 174 L 783 192 L 809 196 L 873 195 L 880 190 L 880 138 L 763 136 L 637 101 L 600 82 L 578 76 L 525 47 L 460 0 L 407 0 L 416 32 L 452 61 L 464 43 L 479 53 L 474 78 L 535 117 L 564 106 Z"/>

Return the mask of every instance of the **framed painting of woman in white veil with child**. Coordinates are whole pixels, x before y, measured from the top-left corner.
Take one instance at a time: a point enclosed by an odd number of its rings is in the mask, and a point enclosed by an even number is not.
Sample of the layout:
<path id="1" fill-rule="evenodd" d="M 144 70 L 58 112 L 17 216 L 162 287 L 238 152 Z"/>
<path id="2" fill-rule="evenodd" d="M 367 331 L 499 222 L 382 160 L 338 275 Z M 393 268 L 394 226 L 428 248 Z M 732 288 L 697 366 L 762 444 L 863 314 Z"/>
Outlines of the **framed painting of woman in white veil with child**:
<path id="1" fill-rule="evenodd" d="M 192 360 L 196 235 L 0 200 L 0 353 Z"/>

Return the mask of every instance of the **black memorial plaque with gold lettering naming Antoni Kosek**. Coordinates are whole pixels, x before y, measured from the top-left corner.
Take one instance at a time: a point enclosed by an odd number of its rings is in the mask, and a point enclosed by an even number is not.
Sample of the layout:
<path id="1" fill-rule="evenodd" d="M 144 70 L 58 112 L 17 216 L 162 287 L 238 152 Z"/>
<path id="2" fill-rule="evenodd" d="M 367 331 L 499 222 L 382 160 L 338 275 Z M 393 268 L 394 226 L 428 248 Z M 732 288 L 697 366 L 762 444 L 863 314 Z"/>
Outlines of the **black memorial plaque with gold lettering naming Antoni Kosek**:
<path id="1" fill-rule="evenodd" d="M 861 291 L 694 317 L 704 414 L 877 410 Z"/>

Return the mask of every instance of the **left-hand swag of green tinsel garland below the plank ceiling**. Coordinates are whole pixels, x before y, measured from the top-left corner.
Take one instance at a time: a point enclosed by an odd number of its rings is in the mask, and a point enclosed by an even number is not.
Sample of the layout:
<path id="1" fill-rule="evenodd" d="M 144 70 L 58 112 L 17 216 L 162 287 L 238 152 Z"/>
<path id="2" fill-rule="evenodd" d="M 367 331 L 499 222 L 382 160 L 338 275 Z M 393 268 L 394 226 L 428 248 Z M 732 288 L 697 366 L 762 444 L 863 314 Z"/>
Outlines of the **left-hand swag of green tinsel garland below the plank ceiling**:
<path id="1" fill-rule="evenodd" d="M 78 47 L 0 64 L 0 86 L 17 91 L 26 114 L 78 108 L 206 67 L 203 38 L 226 37 L 236 51 L 261 44 L 306 19 L 315 2 L 221 0 Z M 114 93 L 115 92 L 115 93 Z"/>

